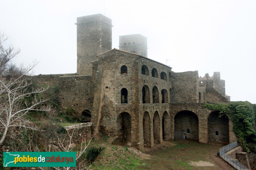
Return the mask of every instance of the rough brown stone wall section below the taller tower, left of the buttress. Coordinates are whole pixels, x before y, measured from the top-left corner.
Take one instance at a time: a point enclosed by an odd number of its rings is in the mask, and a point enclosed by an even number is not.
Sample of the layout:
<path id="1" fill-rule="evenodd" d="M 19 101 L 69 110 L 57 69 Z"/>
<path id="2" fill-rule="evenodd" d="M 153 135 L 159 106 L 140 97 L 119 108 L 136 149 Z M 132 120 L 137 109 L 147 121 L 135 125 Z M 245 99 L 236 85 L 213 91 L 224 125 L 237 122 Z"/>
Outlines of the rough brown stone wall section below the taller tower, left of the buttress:
<path id="1" fill-rule="evenodd" d="M 59 87 L 61 107 L 73 108 L 76 117 L 81 117 L 84 110 L 92 112 L 94 97 L 92 76 L 61 76 Z"/>

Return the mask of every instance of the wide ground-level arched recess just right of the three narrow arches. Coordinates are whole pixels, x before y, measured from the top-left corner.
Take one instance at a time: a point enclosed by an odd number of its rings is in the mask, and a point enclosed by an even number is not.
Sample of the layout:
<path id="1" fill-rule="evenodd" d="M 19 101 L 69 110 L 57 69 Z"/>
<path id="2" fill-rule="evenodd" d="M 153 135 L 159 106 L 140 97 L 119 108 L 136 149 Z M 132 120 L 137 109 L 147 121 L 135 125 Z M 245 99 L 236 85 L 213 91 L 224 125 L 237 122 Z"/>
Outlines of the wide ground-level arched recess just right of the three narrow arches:
<path id="1" fill-rule="evenodd" d="M 189 129 L 189 133 L 188 133 Z M 198 117 L 194 112 L 181 111 L 174 117 L 174 139 L 184 138 L 198 140 Z"/>

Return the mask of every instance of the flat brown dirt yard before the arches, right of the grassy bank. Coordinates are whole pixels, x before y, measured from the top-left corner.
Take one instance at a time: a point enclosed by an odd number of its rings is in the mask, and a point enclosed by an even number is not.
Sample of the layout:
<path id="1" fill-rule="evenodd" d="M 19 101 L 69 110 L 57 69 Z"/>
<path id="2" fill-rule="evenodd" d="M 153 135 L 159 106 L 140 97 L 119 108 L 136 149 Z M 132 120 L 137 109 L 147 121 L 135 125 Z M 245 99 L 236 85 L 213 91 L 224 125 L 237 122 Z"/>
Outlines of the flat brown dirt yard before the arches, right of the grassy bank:
<path id="1" fill-rule="evenodd" d="M 194 140 L 163 141 L 163 144 L 144 149 L 146 154 L 153 156 L 153 159 L 146 161 L 153 167 L 147 169 L 234 169 L 217 157 L 217 151 L 222 146 L 219 143 L 200 144 Z"/>

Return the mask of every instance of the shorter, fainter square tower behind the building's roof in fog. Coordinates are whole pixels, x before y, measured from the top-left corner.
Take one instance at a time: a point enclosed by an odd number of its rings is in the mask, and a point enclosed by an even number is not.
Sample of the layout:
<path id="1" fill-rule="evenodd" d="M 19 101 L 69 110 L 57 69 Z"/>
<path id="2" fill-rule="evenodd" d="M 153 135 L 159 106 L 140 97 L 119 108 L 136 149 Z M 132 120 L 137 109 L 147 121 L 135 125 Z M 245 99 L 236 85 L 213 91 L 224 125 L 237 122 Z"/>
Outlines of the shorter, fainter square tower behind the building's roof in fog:
<path id="1" fill-rule="evenodd" d="M 140 34 L 119 36 L 119 49 L 148 57 L 147 38 Z"/>

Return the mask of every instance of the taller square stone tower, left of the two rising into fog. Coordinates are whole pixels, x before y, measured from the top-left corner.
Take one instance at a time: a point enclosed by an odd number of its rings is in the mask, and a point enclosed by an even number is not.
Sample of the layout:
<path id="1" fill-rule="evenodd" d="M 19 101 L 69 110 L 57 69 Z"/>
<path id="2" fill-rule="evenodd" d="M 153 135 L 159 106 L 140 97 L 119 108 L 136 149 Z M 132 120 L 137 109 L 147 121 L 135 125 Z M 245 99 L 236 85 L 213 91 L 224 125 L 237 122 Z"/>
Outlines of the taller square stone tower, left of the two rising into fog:
<path id="1" fill-rule="evenodd" d="M 92 61 L 112 49 L 112 20 L 102 14 L 77 18 L 77 73 L 92 75 Z"/>

